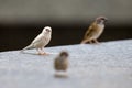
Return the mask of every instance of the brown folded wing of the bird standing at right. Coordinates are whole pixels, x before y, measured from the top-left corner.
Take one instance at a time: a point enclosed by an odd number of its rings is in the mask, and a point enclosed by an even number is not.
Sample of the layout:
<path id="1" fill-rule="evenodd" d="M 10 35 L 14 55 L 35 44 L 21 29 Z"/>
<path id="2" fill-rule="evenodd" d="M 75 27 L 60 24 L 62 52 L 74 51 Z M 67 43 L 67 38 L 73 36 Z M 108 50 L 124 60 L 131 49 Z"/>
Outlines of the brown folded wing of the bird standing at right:
<path id="1" fill-rule="evenodd" d="M 92 37 L 92 35 L 95 35 L 95 31 L 96 31 L 96 29 L 97 29 L 97 23 L 96 22 L 94 22 L 90 26 L 89 26 L 89 29 L 87 30 L 87 32 L 85 33 L 85 36 L 84 36 L 84 40 L 90 40 L 90 37 Z"/>

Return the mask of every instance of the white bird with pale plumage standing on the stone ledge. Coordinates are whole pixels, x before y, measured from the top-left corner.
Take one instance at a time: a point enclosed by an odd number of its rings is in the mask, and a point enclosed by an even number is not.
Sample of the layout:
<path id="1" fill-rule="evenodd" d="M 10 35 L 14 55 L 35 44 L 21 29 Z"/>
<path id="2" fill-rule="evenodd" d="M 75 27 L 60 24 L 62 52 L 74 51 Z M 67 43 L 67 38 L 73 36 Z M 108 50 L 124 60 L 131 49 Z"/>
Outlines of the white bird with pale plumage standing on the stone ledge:
<path id="1" fill-rule="evenodd" d="M 44 47 L 50 43 L 52 38 L 52 28 L 45 26 L 41 34 L 38 34 L 30 45 L 24 47 L 21 52 L 25 50 L 36 48 L 40 55 L 45 55 L 46 53 L 43 51 Z"/>

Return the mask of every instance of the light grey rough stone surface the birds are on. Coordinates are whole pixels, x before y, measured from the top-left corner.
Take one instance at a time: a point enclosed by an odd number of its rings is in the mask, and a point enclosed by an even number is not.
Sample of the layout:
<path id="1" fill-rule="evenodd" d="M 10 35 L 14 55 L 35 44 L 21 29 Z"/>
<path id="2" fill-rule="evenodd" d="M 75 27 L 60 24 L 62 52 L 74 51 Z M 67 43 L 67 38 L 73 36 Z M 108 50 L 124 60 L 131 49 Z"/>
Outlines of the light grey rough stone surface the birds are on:
<path id="1" fill-rule="evenodd" d="M 68 51 L 67 78 L 55 78 L 54 57 Z M 131 88 L 132 40 L 98 45 L 46 47 L 40 56 L 19 51 L 0 53 L 0 88 Z M 34 50 L 28 51 L 35 53 Z"/>

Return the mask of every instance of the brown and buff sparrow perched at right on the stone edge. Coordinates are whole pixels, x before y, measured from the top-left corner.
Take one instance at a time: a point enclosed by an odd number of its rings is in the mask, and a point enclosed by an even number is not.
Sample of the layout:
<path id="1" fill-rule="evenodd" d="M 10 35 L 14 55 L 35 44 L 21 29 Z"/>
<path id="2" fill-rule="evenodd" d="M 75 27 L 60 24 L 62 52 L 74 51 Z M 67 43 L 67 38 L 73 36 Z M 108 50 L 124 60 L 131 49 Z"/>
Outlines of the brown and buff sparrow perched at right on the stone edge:
<path id="1" fill-rule="evenodd" d="M 108 21 L 106 16 L 98 16 L 95 22 L 89 26 L 85 33 L 81 44 L 86 43 L 99 43 L 97 38 L 102 34 L 105 30 L 105 23 Z"/>

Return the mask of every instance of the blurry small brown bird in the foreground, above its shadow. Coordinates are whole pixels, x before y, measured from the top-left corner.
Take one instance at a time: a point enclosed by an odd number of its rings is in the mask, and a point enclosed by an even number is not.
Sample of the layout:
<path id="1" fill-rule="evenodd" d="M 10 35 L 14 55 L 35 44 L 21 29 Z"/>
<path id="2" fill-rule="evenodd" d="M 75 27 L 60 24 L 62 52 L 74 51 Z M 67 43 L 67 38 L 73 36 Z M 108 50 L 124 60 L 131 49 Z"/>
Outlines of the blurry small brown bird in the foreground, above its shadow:
<path id="1" fill-rule="evenodd" d="M 68 53 L 61 52 L 61 54 L 54 61 L 54 68 L 56 70 L 66 72 L 68 68 Z"/>

